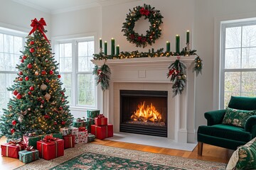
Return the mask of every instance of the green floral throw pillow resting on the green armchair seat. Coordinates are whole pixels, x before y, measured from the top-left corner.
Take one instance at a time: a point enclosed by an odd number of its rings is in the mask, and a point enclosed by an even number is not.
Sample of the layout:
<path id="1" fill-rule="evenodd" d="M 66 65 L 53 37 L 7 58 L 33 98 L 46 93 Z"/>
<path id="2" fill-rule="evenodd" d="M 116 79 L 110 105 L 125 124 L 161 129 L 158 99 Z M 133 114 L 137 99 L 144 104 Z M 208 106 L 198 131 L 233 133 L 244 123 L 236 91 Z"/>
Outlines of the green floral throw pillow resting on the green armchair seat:
<path id="1" fill-rule="evenodd" d="M 226 108 L 223 124 L 245 127 L 246 120 L 255 115 L 256 111 L 243 111 L 235 108 Z"/>

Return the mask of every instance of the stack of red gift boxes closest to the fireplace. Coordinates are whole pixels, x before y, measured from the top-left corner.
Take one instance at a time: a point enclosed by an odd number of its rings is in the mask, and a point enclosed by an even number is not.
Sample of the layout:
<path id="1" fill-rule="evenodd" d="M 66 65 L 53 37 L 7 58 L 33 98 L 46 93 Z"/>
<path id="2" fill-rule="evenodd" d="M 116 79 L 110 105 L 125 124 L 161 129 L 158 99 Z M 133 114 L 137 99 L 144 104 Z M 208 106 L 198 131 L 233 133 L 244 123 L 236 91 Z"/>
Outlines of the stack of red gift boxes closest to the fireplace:
<path id="1" fill-rule="evenodd" d="M 95 125 L 91 125 L 91 133 L 99 140 L 113 136 L 113 125 L 107 124 L 107 118 L 100 114 L 95 118 Z"/>

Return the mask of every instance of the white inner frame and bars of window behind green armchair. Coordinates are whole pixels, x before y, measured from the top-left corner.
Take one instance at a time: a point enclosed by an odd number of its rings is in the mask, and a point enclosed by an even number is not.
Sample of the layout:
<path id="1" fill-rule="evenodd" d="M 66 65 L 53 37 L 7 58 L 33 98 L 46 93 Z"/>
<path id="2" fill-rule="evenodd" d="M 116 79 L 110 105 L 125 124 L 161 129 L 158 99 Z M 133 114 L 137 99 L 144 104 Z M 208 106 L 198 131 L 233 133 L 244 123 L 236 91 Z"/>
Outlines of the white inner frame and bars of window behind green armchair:
<path id="1" fill-rule="evenodd" d="M 248 18 L 242 20 L 233 20 L 233 21 L 222 21 L 220 22 L 220 72 L 219 72 L 219 108 L 224 109 L 224 101 L 225 101 L 225 72 L 256 72 L 255 68 L 250 69 L 225 69 L 225 30 L 226 28 L 233 28 L 233 27 L 243 27 L 243 26 L 252 26 L 256 25 L 256 18 Z M 241 30 L 242 31 L 242 30 Z M 255 47 L 255 46 L 250 46 Z M 242 34 L 241 34 L 241 45 L 240 47 L 240 55 L 242 57 Z M 242 62 L 242 58 L 241 58 Z M 241 74 L 242 75 L 242 74 Z M 241 81 L 242 79 L 240 79 Z M 241 86 L 242 87 L 242 86 Z M 241 88 L 239 93 L 241 93 Z"/>

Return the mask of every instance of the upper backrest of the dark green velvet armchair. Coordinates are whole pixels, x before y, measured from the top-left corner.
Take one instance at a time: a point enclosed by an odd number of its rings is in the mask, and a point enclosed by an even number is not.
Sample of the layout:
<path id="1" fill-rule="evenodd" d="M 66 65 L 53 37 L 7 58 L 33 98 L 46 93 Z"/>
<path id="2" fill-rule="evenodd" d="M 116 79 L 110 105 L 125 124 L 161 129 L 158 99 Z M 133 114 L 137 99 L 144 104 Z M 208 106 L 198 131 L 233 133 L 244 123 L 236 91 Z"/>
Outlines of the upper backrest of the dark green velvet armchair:
<path id="1" fill-rule="evenodd" d="M 256 98 L 231 96 L 228 108 L 236 108 L 239 110 L 253 111 L 256 110 Z"/>

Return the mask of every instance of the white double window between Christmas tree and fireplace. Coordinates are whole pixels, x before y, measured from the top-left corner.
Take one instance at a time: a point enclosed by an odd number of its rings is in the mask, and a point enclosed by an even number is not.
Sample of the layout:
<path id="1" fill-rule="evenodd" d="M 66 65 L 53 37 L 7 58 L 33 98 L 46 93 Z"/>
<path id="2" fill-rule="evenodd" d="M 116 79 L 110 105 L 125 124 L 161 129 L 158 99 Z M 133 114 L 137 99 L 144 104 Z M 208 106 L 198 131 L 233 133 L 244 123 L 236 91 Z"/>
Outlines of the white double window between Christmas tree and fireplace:
<path id="1" fill-rule="evenodd" d="M 90 61 L 95 53 L 94 38 L 60 40 L 55 52 L 70 106 L 96 108 L 97 91 Z"/>

